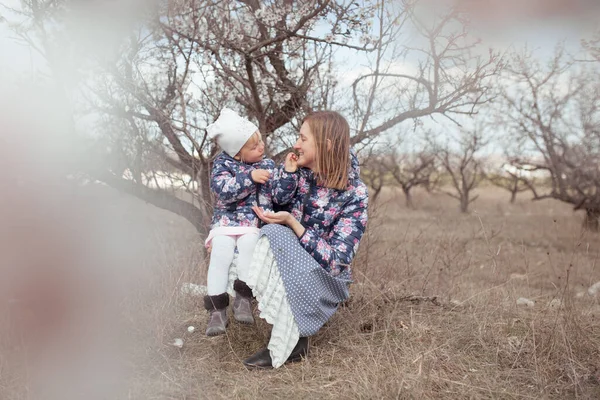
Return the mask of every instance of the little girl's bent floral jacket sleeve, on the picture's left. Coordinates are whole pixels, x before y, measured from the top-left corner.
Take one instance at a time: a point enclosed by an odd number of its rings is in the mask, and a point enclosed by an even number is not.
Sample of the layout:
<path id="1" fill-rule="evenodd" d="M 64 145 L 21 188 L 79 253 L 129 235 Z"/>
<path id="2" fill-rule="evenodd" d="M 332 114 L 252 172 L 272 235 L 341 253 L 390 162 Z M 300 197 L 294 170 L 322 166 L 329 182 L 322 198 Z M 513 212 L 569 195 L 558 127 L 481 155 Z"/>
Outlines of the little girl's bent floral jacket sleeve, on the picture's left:
<path id="1" fill-rule="evenodd" d="M 210 188 L 218 200 L 225 204 L 235 203 L 256 190 L 252 171 L 234 170 L 226 162 L 216 160 L 213 166 Z"/>

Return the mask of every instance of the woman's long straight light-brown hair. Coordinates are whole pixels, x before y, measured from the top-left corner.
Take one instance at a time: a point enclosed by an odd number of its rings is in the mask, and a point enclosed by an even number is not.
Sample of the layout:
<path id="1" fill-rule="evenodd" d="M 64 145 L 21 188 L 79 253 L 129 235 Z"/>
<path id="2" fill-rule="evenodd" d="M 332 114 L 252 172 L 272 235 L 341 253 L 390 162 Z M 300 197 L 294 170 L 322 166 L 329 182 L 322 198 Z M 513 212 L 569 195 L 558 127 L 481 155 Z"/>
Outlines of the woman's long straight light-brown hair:
<path id="1" fill-rule="evenodd" d="M 318 111 L 307 115 L 302 122 L 308 123 L 315 139 L 317 180 L 328 188 L 346 189 L 350 165 L 348 121 L 335 111 Z"/>

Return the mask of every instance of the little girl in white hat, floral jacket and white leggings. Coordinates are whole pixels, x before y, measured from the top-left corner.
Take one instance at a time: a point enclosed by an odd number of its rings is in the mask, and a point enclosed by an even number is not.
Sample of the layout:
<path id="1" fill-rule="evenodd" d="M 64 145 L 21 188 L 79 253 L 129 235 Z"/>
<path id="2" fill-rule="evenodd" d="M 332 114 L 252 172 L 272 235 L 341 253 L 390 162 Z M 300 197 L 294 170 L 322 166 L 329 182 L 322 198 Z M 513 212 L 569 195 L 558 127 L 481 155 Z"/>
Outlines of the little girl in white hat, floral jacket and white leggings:
<path id="1" fill-rule="evenodd" d="M 224 108 L 219 118 L 207 127 L 208 135 L 223 150 L 215 159 L 211 189 L 216 198 L 211 230 L 206 246 L 212 247 L 208 267 L 204 307 L 210 312 L 206 334 L 225 333 L 229 295 L 229 266 L 238 250 L 238 279 L 233 288 L 234 318 L 254 323 L 250 300 L 252 290 L 246 285 L 252 253 L 258 241 L 260 220 L 253 206 L 272 209 L 270 177 L 275 164 L 264 159 L 265 146 L 256 125 Z"/>

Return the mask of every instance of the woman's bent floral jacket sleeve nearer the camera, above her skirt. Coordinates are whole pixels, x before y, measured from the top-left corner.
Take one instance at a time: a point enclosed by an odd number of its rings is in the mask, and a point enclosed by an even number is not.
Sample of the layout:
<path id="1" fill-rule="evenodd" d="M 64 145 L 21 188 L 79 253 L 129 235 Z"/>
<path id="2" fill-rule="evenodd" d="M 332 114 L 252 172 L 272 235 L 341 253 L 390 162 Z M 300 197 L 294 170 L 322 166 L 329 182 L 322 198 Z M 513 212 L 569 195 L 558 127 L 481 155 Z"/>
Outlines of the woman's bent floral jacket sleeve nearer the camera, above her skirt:
<path id="1" fill-rule="evenodd" d="M 300 238 L 304 249 L 332 275 L 350 266 L 367 225 L 368 195 L 364 185 L 344 207 L 327 239 L 307 227 Z"/>

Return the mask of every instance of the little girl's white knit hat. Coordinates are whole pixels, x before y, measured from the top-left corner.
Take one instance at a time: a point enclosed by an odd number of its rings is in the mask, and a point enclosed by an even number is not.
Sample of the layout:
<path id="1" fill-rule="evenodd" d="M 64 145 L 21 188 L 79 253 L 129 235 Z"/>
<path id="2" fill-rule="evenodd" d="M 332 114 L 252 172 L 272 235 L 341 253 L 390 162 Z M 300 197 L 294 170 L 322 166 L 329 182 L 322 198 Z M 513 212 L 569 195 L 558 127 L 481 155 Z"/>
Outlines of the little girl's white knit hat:
<path id="1" fill-rule="evenodd" d="M 229 108 L 222 109 L 219 118 L 206 127 L 208 136 L 231 157 L 240 152 L 257 130 L 256 125 Z"/>

